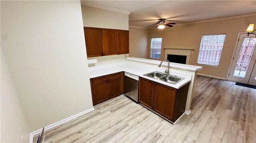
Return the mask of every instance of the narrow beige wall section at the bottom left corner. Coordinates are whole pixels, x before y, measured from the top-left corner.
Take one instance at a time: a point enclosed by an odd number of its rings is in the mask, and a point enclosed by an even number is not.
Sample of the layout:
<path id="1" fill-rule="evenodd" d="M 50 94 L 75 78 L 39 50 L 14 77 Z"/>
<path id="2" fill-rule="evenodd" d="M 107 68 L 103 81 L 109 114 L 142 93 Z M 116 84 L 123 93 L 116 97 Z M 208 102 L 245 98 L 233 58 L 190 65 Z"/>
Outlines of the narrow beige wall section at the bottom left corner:
<path id="1" fill-rule="evenodd" d="M 1 143 L 20 143 L 24 135 L 28 142 L 28 125 L 1 51 Z"/>

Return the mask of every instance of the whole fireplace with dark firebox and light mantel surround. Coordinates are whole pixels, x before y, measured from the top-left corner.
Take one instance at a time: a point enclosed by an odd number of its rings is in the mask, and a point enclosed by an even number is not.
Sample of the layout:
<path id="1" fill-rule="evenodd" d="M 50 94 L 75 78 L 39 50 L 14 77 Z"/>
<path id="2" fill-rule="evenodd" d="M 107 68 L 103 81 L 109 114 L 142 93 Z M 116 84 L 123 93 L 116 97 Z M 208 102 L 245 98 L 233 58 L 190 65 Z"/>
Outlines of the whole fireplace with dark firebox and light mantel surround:
<path id="1" fill-rule="evenodd" d="M 164 59 L 173 63 L 189 64 L 191 51 L 194 49 L 164 48 Z"/>

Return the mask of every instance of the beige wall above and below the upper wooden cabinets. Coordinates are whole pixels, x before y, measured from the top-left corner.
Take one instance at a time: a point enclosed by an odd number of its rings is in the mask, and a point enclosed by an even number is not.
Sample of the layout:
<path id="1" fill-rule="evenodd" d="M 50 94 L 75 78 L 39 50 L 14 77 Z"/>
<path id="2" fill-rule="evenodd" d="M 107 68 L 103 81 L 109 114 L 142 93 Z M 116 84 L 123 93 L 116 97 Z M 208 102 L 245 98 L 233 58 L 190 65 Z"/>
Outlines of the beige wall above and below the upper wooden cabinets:
<path id="1" fill-rule="evenodd" d="M 81 5 L 81 7 L 83 24 L 86 27 L 129 30 L 129 16 L 127 14 L 120 14 L 118 12 L 102 10 L 84 5 Z M 125 57 L 128 57 L 128 54 L 92 57 L 88 59 L 97 59 L 98 63 L 90 64 L 89 66 L 122 62 L 125 61 Z"/>

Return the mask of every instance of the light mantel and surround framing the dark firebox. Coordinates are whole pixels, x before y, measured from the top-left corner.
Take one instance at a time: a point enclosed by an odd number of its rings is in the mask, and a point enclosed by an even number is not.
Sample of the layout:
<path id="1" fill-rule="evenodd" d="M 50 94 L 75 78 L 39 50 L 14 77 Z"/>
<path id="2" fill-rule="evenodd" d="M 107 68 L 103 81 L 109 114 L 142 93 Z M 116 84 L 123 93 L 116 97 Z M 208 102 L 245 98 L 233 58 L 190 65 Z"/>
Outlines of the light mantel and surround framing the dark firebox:
<path id="1" fill-rule="evenodd" d="M 168 55 L 182 55 L 187 56 L 186 64 L 189 64 L 192 48 L 164 48 L 164 59 L 167 59 Z"/>

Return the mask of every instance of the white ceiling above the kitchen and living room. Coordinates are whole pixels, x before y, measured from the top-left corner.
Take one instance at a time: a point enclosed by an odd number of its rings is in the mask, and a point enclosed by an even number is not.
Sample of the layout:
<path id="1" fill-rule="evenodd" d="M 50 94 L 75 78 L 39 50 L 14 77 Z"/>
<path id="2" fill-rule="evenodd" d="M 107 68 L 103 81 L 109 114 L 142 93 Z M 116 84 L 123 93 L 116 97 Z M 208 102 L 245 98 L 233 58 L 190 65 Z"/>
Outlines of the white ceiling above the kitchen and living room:
<path id="1" fill-rule="evenodd" d="M 83 0 L 81 4 L 130 12 L 129 25 L 147 27 L 159 18 L 184 24 L 256 14 L 256 0 Z"/>

